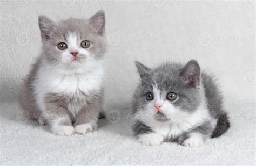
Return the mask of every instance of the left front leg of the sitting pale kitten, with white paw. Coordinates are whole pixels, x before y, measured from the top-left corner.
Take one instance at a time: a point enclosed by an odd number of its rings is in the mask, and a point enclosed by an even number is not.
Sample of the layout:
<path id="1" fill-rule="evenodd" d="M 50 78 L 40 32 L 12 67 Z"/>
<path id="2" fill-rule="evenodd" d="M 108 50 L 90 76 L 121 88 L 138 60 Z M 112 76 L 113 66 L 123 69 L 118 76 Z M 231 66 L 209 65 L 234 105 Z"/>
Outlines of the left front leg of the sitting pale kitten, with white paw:
<path id="1" fill-rule="evenodd" d="M 64 101 L 63 96 L 53 93 L 47 94 L 44 98 L 44 119 L 50 125 L 52 133 L 56 135 L 72 135 L 75 133 L 68 110 L 64 106 Z"/>

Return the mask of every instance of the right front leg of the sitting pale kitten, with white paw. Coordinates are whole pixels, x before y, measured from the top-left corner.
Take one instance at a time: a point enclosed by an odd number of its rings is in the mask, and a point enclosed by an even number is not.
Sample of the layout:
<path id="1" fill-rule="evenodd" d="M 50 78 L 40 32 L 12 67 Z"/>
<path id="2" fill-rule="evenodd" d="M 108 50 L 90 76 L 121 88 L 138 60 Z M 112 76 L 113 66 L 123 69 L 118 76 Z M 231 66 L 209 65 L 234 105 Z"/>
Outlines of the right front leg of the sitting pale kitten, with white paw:
<path id="1" fill-rule="evenodd" d="M 87 101 L 86 106 L 81 110 L 75 121 L 75 131 L 78 134 L 85 134 L 95 131 L 99 112 L 101 111 L 100 92 Z"/>

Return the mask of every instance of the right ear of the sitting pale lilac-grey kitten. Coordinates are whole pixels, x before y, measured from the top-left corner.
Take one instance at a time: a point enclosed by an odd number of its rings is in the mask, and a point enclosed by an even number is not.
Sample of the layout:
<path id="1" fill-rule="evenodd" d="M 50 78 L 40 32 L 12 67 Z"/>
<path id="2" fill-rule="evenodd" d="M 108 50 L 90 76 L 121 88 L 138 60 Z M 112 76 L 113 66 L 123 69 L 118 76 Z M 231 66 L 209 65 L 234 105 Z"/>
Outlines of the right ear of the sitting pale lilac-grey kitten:
<path id="1" fill-rule="evenodd" d="M 99 10 L 95 15 L 89 19 L 91 24 L 99 35 L 103 35 L 105 32 L 105 13 L 103 10 Z"/>

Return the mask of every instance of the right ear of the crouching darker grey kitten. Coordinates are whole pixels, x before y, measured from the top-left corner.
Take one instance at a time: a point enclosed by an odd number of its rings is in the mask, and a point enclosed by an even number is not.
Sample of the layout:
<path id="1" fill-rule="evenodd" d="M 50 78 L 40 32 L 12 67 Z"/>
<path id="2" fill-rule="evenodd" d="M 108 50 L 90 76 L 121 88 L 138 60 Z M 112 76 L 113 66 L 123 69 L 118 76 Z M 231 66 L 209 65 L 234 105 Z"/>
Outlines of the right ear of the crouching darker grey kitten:
<path id="1" fill-rule="evenodd" d="M 185 84 L 196 87 L 199 85 L 200 67 L 196 60 L 190 60 L 180 73 L 181 79 Z"/>

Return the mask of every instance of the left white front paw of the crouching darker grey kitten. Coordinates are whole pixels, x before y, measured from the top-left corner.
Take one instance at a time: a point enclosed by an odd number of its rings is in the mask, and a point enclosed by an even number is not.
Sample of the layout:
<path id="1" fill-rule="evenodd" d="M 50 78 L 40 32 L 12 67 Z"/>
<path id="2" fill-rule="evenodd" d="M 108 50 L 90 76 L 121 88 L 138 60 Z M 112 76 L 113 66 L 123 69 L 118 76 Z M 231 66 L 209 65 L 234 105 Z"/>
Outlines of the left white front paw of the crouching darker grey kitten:
<path id="1" fill-rule="evenodd" d="M 159 145 L 164 141 L 164 137 L 157 133 L 149 133 L 145 135 L 140 135 L 138 142 L 144 145 Z"/>

